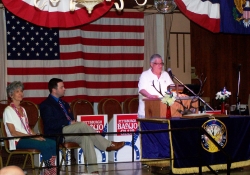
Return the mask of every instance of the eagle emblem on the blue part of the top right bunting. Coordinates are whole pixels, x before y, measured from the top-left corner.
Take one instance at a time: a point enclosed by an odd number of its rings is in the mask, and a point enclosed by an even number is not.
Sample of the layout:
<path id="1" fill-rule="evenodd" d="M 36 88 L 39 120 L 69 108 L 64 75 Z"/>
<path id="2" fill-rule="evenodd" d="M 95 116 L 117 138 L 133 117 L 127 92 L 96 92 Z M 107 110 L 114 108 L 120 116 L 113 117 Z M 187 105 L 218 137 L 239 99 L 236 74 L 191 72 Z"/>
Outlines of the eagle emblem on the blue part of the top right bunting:
<path id="1" fill-rule="evenodd" d="M 246 28 L 250 26 L 250 2 L 249 0 L 234 0 L 234 19 L 242 22 Z"/>

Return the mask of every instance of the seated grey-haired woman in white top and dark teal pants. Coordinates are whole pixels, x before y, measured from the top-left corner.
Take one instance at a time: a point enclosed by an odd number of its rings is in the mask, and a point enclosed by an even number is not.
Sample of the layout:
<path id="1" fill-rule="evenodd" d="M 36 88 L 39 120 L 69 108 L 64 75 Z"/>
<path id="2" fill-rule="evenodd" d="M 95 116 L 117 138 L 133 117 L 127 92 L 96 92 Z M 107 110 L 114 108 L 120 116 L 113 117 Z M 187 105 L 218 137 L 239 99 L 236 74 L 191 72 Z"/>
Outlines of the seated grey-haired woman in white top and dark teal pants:
<path id="1" fill-rule="evenodd" d="M 20 106 L 23 99 L 24 86 L 20 81 L 14 81 L 7 87 L 7 94 L 12 102 L 7 106 L 3 113 L 3 122 L 8 137 L 21 137 L 36 135 L 29 127 L 29 121 L 26 111 Z M 16 138 L 9 140 L 10 150 L 15 149 L 37 149 L 41 151 L 43 161 L 47 167 L 44 170 L 44 175 L 55 175 L 56 168 L 56 143 L 54 140 L 34 137 L 34 138 Z"/>

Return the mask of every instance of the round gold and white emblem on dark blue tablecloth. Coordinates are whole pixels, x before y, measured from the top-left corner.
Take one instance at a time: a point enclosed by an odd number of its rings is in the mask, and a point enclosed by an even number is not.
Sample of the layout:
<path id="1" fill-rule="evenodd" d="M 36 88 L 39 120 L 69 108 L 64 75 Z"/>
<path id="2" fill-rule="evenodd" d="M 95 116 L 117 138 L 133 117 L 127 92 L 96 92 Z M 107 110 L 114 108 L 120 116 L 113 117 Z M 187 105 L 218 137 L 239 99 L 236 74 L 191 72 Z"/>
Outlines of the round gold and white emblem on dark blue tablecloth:
<path id="1" fill-rule="evenodd" d="M 202 128 L 204 128 L 207 133 L 209 133 L 212 138 L 222 147 L 224 148 L 227 144 L 227 128 L 220 120 L 211 119 L 206 121 Z M 204 134 L 201 136 L 202 139 L 202 147 L 210 152 L 215 153 L 218 152 L 219 149 L 215 144 Z"/>

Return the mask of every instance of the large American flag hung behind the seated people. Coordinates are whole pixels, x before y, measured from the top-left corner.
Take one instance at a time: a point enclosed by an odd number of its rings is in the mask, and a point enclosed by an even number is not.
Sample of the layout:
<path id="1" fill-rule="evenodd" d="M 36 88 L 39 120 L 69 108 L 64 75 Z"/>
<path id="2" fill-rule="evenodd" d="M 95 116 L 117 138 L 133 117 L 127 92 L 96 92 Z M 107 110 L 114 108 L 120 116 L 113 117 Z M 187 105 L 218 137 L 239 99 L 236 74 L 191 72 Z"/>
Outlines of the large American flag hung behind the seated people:
<path id="1" fill-rule="evenodd" d="M 38 104 L 48 96 L 53 77 L 64 80 L 68 102 L 136 97 L 144 59 L 143 18 L 138 12 L 108 12 L 91 24 L 58 30 L 6 11 L 7 81 L 22 81 L 24 100 Z"/>

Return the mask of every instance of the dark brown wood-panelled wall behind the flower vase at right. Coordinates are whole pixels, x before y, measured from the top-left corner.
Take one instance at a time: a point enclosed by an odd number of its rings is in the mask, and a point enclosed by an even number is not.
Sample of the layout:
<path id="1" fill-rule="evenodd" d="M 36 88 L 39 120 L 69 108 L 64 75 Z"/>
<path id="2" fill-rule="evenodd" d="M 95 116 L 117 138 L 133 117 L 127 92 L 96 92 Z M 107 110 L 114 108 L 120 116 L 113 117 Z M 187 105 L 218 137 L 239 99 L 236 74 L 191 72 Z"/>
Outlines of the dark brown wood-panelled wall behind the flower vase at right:
<path id="1" fill-rule="evenodd" d="M 211 105 L 216 107 L 219 102 L 215 94 L 224 86 L 232 95 L 227 102 L 236 104 L 238 65 L 241 64 L 241 83 L 239 99 L 247 104 L 250 93 L 250 35 L 215 34 L 191 22 L 191 66 L 196 68 L 196 75 L 204 73 L 207 82 L 204 95 L 210 97 Z M 196 80 L 192 80 L 197 83 Z"/>

